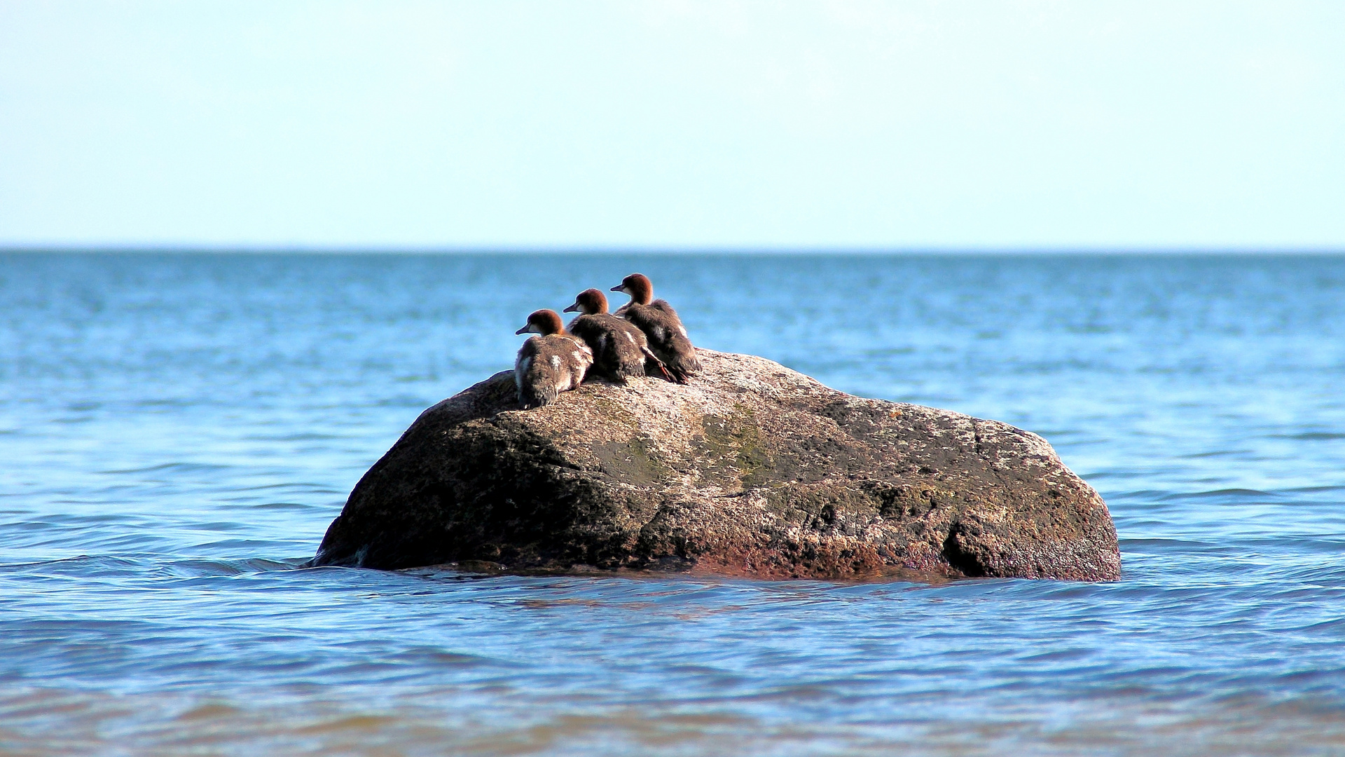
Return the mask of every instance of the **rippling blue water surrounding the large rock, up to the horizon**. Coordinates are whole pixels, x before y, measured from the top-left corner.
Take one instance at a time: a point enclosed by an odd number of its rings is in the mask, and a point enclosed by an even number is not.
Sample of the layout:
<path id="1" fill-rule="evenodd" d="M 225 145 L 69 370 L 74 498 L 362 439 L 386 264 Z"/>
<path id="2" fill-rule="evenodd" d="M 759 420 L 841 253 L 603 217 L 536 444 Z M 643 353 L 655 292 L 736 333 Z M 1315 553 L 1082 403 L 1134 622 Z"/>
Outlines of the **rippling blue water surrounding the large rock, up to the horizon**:
<path id="1" fill-rule="evenodd" d="M 1123 578 L 299 570 L 529 311 L 1036 431 Z M 1342 754 L 1345 257 L 0 255 L 0 753 Z"/>

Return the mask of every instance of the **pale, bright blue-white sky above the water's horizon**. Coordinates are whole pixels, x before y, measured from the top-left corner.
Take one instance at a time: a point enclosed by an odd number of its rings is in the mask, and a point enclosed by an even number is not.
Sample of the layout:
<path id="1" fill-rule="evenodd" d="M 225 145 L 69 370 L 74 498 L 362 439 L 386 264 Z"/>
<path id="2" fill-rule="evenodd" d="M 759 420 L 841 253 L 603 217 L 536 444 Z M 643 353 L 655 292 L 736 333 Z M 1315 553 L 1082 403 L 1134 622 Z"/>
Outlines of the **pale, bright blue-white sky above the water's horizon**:
<path id="1" fill-rule="evenodd" d="M 1345 3 L 0 0 L 0 245 L 1345 249 Z"/>

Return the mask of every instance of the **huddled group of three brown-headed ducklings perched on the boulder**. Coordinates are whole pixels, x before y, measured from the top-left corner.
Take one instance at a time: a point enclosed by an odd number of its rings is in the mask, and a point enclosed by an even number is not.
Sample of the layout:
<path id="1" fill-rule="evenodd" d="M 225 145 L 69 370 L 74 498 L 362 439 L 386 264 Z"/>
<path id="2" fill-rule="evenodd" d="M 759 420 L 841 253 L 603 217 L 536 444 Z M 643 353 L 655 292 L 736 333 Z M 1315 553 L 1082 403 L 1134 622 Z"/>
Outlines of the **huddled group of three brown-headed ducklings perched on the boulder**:
<path id="1" fill-rule="evenodd" d="M 682 319 L 666 300 L 654 299 L 648 276 L 631 273 L 612 291 L 631 295 L 615 314 L 607 311 L 607 295 L 584 290 L 565 308 L 580 312 L 569 326 L 554 310 L 538 310 L 515 331 L 541 334 L 523 342 L 514 361 L 519 405 L 545 405 L 577 389 L 590 372 L 619 384 L 647 374 L 686 384 L 701 372 Z"/>

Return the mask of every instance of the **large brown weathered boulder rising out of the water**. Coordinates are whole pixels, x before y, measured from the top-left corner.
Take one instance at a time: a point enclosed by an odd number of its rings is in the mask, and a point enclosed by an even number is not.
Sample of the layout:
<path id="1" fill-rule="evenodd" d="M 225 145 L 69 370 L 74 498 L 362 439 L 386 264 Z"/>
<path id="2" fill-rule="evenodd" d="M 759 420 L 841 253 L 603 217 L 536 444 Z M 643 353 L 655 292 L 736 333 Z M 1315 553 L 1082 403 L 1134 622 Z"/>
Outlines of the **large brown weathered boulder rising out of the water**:
<path id="1" fill-rule="evenodd" d="M 426 409 L 312 564 L 648 568 L 760 578 L 1107 581 L 1116 531 L 1044 439 L 701 350 L 521 411 L 508 372 Z"/>

